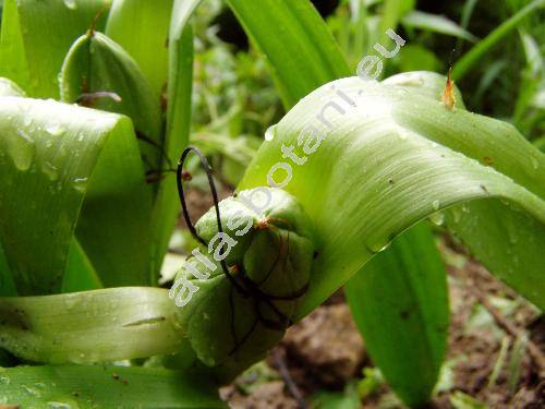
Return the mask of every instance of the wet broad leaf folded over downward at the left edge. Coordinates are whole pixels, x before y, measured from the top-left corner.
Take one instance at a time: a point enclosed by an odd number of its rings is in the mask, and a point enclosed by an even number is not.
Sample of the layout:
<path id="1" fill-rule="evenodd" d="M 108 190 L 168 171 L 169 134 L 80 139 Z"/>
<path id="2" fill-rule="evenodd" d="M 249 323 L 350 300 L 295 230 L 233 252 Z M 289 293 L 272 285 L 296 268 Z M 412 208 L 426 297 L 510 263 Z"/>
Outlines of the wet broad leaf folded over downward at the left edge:
<path id="1" fill-rule="evenodd" d="M 61 290 L 74 230 L 106 286 L 148 284 L 150 193 L 129 119 L 17 97 L 0 118 L 0 241 L 19 292 Z"/>

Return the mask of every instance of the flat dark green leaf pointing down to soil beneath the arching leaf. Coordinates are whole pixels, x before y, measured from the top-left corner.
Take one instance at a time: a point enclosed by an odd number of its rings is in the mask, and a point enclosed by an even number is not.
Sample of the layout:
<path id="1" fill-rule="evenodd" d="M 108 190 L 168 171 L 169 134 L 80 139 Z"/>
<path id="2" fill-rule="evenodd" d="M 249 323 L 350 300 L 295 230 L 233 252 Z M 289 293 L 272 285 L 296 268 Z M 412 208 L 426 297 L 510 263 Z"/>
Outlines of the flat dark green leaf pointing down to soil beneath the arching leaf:
<path id="1" fill-rule="evenodd" d="M 447 346 L 446 272 L 425 224 L 390 249 L 365 264 L 346 293 L 373 362 L 405 404 L 419 406 L 434 389 Z"/>

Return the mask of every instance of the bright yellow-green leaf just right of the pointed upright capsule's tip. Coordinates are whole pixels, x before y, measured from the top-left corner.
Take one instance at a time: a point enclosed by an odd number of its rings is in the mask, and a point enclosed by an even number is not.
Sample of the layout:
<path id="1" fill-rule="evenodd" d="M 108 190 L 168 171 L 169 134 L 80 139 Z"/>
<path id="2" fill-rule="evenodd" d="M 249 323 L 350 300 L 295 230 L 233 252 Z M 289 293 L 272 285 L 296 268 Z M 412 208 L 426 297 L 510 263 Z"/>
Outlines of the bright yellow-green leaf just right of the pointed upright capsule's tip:
<path id="1" fill-rule="evenodd" d="M 168 34 L 172 0 L 113 0 L 106 35 L 137 62 L 159 98 L 168 72 Z"/>

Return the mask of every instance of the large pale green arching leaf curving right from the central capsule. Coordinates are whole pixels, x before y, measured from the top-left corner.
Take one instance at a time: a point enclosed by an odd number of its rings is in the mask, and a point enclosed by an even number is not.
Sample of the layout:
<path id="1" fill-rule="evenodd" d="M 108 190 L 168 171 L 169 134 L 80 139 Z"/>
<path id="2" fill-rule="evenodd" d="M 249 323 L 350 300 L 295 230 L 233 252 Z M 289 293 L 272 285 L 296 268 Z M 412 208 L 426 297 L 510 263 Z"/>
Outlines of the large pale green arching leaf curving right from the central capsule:
<path id="1" fill-rule="evenodd" d="M 544 243 L 545 155 L 505 122 L 446 108 L 439 95 L 432 96 L 444 81 L 407 73 L 383 83 L 334 82 L 301 100 L 262 145 L 239 189 L 266 185 L 272 166 L 290 164 L 292 178 L 283 189 L 299 199 L 317 231 L 318 256 L 301 315 L 404 229 L 463 202 L 497 199 L 512 206 L 507 213 L 521 208 L 530 217 L 514 226 L 518 237 Z M 282 144 L 306 163 L 282 158 Z M 280 170 L 274 178 L 282 183 L 286 175 Z M 472 250 L 483 261 L 489 257 Z M 502 277 L 541 308 L 544 300 L 536 294 L 545 291 L 545 280 L 535 279 L 532 288 L 525 282 L 543 273 L 544 256 L 533 253 L 526 270 L 510 262 Z"/>

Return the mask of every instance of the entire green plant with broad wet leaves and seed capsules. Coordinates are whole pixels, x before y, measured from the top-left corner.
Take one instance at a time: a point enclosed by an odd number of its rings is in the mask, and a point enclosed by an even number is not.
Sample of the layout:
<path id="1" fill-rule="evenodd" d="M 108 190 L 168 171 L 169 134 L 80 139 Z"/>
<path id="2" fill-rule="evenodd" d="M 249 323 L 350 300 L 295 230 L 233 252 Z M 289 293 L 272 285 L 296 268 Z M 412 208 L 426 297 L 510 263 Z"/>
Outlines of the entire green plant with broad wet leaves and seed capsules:
<path id="1" fill-rule="evenodd" d="M 421 405 L 448 330 L 445 268 L 420 222 L 429 216 L 545 308 L 543 153 L 512 125 L 469 112 L 456 87 L 453 107 L 441 104 L 441 75 L 350 76 L 307 0 L 227 2 L 289 111 L 237 197 L 218 204 L 219 222 L 216 208 L 196 222 L 207 254 L 221 225 L 237 236 L 231 216 L 252 220 L 227 272 L 213 257 L 211 272 L 198 264 L 203 279 L 181 270 L 198 291 L 180 309 L 156 286 L 180 210 L 171 170 L 189 145 L 189 20 L 199 1 L 4 1 L 0 402 L 221 407 L 219 384 L 346 284 L 374 361 L 401 399 Z M 455 77 L 543 5 L 477 43 Z M 390 17 L 383 33 L 400 15 Z M 331 105 L 338 92 L 353 104 Z M 319 147 L 292 166 L 291 182 L 270 190 L 263 214 L 242 205 L 317 117 L 329 127 L 316 129 Z"/>

